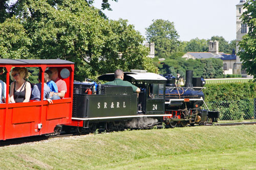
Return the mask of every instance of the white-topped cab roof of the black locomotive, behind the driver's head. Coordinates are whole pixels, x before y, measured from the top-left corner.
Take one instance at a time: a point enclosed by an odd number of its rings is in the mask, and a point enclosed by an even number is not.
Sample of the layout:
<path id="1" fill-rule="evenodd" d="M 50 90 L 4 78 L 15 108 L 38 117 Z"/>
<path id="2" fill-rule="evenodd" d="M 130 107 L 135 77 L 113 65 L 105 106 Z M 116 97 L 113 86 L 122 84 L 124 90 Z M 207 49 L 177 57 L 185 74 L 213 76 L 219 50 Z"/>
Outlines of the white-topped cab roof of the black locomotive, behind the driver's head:
<path id="1" fill-rule="evenodd" d="M 150 83 L 165 83 L 167 79 L 152 72 L 123 72 L 125 81 L 129 82 L 150 82 Z M 99 80 L 113 81 L 115 80 L 114 73 L 104 74 L 98 77 Z"/>

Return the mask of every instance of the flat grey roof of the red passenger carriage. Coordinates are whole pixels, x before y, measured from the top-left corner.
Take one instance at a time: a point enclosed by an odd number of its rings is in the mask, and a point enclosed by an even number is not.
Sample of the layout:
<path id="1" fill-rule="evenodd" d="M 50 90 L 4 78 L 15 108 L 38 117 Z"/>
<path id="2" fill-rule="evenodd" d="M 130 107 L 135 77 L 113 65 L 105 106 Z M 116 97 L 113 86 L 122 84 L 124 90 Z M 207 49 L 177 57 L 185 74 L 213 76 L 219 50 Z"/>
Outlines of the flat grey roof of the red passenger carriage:
<path id="1" fill-rule="evenodd" d="M 0 59 L 0 65 L 13 64 L 13 65 L 26 65 L 26 64 L 74 64 L 71 61 L 60 59 Z"/>

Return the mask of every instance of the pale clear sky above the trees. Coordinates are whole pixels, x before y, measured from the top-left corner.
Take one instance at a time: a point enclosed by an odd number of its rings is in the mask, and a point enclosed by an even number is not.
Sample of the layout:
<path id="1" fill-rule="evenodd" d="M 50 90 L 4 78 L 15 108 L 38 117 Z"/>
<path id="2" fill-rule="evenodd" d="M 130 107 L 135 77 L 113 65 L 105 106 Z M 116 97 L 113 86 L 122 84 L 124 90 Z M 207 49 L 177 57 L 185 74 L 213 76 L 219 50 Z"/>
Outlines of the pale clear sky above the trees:
<path id="1" fill-rule="evenodd" d="M 95 0 L 100 8 L 102 0 Z M 113 11 L 103 12 L 110 19 L 127 19 L 145 37 L 153 19 L 174 22 L 180 40 L 210 39 L 223 36 L 236 39 L 236 5 L 240 0 L 109 0 Z"/>

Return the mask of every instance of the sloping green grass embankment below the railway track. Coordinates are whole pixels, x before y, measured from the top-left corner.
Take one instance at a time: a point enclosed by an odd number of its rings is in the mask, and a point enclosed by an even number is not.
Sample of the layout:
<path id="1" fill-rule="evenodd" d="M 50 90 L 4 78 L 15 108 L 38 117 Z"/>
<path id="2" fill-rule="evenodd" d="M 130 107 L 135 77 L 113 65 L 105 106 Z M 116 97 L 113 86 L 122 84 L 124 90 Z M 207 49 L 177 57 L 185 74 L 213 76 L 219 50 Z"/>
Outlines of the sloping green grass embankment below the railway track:
<path id="1" fill-rule="evenodd" d="M 53 138 L 0 148 L 1 169 L 255 169 L 256 126 Z"/>

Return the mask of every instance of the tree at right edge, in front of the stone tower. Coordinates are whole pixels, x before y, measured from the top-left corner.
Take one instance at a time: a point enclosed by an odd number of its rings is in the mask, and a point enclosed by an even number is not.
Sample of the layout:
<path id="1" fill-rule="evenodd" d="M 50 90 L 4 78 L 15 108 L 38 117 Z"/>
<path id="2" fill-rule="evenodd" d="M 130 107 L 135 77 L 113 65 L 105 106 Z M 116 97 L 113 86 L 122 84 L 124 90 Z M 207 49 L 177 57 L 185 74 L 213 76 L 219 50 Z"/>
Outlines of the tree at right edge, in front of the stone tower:
<path id="1" fill-rule="evenodd" d="M 241 18 L 244 23 L 247 23 L 249 30 L 239 42 L 238 55 L 247 73 L 256 79 L 256 2 L 248 0 L 244 8 L 247 11 L 243 12 Z"/>

